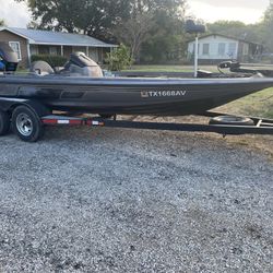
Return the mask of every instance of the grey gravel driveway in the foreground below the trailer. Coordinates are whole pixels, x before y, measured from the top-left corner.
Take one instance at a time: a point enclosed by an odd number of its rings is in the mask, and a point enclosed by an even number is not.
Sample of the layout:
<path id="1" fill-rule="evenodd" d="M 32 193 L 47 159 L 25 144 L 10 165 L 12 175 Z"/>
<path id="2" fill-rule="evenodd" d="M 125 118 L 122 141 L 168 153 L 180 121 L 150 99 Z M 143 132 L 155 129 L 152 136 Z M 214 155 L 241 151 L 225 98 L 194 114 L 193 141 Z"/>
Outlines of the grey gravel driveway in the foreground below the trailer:
<path id="1" fill-rule="evenodd" d="M 273 272 L 262 152 L 102 128 L 0 147 L 0 272 Z"/>

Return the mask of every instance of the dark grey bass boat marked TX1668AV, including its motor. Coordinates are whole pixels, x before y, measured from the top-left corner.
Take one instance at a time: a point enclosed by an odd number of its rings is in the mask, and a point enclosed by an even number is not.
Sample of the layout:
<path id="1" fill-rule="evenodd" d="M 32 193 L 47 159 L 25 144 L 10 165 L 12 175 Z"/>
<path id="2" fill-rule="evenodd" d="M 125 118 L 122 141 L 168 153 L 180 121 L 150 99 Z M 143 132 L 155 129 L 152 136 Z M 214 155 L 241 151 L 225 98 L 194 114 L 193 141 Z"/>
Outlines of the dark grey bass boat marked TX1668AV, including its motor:
<path id="1" fill-rule="evenodd" d="M 2 54 L 1 54 L 2 52 Z M 140 79 L 103 76 L 102 69 L 82 52 L 72 54 L 55 72 L 38 61 L 28 74 L 16 74 L 17 58 L 3 44 L 0 56 L 2 99 L 33 99 L 49 110 L 107 115 L 183 116 L 205 112 L 273 86 L 273 78 Z"/>

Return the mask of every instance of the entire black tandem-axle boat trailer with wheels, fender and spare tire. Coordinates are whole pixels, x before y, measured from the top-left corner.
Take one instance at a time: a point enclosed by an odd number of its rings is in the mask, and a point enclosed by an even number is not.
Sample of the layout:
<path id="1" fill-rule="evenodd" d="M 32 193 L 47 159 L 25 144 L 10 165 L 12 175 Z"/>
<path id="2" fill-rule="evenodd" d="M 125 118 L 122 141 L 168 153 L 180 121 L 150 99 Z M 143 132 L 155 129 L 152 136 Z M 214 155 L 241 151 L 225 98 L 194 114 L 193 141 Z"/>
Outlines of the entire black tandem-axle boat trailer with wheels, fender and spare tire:
<path id="1" fill-rule="evenodd" d="M 112 118 L 52 115 L 46 106 L 34 99 L 0 97 L 0 135 L 12 127 L 17 136 L 26 142 L 38 141 L 47 126 L 86 126 L 123 129 L 149 129 L 181 132 L 213 132 L 228 134 L 273 134 L 273 119 L 230 116 L 207 111 L 200 114 L 211 118 L 209 123 L 176 123 L 118 120 Z"/>

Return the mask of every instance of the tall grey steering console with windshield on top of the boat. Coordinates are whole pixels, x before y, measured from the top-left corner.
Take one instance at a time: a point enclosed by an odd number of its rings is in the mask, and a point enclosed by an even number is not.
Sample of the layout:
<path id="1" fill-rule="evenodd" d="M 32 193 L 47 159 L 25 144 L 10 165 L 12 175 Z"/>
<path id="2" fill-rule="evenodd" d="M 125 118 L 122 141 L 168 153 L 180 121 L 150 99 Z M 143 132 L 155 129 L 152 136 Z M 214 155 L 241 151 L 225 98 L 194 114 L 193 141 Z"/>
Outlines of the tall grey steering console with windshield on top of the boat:
<path id="1" fill-rule="evenodd" d="M 64 66 L 64 71 L 91 78 L 103 76 L 100 67 L 83 52 L 71 54 L 69 62 Z"/>

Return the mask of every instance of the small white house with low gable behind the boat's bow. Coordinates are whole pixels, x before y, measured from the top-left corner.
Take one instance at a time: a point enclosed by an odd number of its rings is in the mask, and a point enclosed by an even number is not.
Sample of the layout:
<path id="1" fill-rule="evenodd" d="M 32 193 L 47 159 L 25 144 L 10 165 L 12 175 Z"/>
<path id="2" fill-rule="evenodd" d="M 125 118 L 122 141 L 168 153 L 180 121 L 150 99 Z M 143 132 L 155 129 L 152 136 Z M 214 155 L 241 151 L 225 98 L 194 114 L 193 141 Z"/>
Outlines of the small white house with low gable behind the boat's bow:
<path id="1" fill-rule="evenodd" d="M 195 40 L 188 43 L 189 59 L 194 55 L 194 44 Z M 200 63 L 218 63 L 230 59 L 248 62 L 261 55 L 262 50 L 262 45 L 221 34 L 210 34 L 199 38 Z"/>

